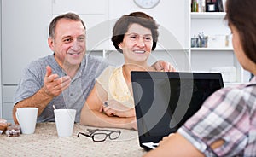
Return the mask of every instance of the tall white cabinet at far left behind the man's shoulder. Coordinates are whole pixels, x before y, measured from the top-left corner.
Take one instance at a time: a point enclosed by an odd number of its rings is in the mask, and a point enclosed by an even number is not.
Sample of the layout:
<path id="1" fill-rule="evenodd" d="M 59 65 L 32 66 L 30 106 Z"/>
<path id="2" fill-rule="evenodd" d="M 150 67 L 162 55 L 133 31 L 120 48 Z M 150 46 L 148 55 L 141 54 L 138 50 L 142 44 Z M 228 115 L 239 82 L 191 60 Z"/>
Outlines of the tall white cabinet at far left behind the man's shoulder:
<path id="1" fill-rule="evenodd" d="M 49 55 L 47 44 L 52 0 L 1 1 L 2 116 L 12 122 L 13 96 L 23 69 Z"/>

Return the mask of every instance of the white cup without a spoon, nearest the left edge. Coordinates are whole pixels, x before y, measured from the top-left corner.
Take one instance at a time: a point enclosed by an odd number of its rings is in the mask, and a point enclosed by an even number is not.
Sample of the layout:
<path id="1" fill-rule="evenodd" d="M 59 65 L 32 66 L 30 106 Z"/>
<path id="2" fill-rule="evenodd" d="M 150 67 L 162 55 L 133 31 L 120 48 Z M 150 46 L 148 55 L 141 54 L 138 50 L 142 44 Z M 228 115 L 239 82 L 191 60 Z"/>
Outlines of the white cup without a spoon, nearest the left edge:
<path id="1" fill-rule="evenodd" d="M 38 108 L 17 108 L 15 115 L 20 124 L 22 134 L 32 134 L 35 132 Z"/>

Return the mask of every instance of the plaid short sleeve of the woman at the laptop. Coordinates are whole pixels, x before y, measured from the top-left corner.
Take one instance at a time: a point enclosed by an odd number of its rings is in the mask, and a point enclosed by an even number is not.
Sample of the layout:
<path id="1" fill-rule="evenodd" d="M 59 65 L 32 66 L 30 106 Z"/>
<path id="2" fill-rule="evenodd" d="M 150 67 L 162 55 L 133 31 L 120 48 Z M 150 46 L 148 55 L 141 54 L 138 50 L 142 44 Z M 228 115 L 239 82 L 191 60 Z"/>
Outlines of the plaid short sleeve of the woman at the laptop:
<path id="1" fill-rule="evenodd" d="M 204 154 L 207 154 L 207 146 L 220 139 L 224 140 L 224 145 L 214 149 L 216 154 L 238 154 L 246 146 L 250 128 L 244 96 L 239 89 L 218 90 L 178 132 Z"/>

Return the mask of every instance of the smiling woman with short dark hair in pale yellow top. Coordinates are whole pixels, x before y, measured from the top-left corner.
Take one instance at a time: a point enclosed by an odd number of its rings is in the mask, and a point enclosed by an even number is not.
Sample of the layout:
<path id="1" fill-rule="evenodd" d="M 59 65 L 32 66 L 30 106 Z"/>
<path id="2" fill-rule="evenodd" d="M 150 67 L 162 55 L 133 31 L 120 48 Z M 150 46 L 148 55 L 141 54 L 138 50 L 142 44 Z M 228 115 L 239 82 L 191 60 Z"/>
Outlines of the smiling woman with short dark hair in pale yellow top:
<path id="1" fill-rule="evenodd" d="M 143 12 L 123 15 L 113 27 L 112 42 L 124 55 L 121 67 L 107 67 L 81 112 L 80 124 L 137 129 L 131 71 L 155 71 L 148 57 L 158 41 L 158 25 Z M 108 101 L 108 105 L 103 105 Z M 106 103 L 105 103 L 106 104 Z"/>

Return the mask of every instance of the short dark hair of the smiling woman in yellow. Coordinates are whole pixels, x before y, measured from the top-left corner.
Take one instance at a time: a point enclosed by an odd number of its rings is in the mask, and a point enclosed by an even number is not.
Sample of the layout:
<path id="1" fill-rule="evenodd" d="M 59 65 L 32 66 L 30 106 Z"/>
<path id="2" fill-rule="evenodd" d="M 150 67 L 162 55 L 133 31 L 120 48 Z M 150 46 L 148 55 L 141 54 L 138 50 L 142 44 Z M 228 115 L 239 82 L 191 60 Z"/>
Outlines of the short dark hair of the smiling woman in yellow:
<path id="1" fill-rule="evenodd" d="M 137 23 L 151 30 L 153 38 L 152 50 L 154 50 L 159 35 L 158 25 L 156 24 L 153 17 L 143 12 L 133 12 L 130 15 L 123 15 L 121 18 L 119 18 L 119 20 L 116 21 L 115 25 L 113 26 L 113 35 L 111 38 L 115 49 L 117 49 L 120 53 L 123 53 L 122 49 L 119 49 L 119 44 L 123 42 L 125 33 L 128 31 L 129 26 L 134 23 Z"/>

